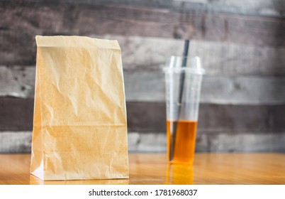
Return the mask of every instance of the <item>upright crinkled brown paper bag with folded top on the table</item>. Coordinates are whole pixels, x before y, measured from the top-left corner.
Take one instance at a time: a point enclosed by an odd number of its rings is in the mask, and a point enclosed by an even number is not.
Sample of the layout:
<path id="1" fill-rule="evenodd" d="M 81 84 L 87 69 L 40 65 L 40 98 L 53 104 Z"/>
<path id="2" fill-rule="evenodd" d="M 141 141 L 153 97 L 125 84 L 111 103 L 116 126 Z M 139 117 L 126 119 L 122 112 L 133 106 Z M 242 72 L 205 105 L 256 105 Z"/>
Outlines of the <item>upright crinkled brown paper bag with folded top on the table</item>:
<path id="1" fill-rule="evenodd" d="M 43 180 L 128 178 L 117 41 L 36 36 L 30 172 Z"/>

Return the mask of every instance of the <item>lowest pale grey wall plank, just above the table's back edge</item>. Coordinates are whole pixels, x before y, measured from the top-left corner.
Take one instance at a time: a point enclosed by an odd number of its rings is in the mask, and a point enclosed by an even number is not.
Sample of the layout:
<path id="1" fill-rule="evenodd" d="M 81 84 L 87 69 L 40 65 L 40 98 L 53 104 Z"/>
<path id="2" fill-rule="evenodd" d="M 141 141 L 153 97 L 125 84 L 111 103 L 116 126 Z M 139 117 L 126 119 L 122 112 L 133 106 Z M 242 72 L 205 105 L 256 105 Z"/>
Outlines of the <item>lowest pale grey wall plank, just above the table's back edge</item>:
<path id="1" fill-rule="evenodd" d="M 30 153 L 31 131 L 0 132 L 0 153 Z M 205 132 L 198 129 L 196 152 L 283 152 L 285 133 Z M 128 151 L 161 153 L 167 151 L 166 132 L 128 131 Z"/>

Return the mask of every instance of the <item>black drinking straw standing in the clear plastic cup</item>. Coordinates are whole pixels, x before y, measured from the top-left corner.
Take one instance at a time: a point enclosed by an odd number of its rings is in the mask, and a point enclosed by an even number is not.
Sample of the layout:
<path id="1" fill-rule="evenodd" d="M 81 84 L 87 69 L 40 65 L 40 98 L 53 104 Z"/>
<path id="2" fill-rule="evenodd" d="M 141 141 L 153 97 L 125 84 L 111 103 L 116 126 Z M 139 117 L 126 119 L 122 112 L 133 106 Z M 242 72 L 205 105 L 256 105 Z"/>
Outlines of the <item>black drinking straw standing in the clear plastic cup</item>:
<path id="1" fill-rule="evenodd" d="M 188 56 L 188 49 L 189 49 L 189 40 L 184 42 L 184 50 L 183 50 L 183 58 L 181 63 L 181 68 L 186 67 L 187 64 L 187 56 Z M 180 74 L 180 81 L 179 81 L 179 98 L 178 98 L 178 112 L 177 112 L 177 121 L 173 122 L 173 132 L 172 132 L 172 139 L 170 144 L 170 153 L 169 153 L 169 160 L 173 160 L 174 156 L 174 149 L 175 149 L 175 140 L 177 134 L 177 124 L 179 122 L 180 112 L 181 112 L 181 105 L 182 105 L 182 97 L 183 97 L 183 88 L 184 88 L 184 79 L 185 79 L 185 72 L 181 71 Z"/>

